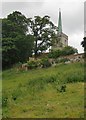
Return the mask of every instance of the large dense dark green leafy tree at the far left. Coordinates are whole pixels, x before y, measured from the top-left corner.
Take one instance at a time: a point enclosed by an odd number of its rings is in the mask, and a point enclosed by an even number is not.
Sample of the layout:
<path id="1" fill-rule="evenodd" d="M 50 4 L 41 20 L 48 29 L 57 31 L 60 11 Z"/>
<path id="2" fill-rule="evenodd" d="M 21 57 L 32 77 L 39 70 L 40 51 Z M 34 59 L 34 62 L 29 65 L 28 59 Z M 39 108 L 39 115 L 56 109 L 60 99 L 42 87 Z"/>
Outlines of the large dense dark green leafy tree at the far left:
<path id="1" fill-rule="evenodd" d="M 28 21 L 20 12 L 13 12 L 2 19 L 3 67 L 25 62 L 32 55 L 33 36 L 27 35 Z"/>

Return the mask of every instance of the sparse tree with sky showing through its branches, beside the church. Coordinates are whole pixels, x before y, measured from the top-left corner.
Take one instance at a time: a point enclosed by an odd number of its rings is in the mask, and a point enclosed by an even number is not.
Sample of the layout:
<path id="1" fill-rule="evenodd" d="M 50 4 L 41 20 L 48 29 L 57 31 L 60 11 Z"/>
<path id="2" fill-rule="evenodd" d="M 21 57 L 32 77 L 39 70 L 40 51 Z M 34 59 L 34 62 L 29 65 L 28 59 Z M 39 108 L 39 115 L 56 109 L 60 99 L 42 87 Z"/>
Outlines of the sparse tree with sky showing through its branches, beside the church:
<path id="1" fill-rule="evenodd" d="M 50 21 L 49 16 L 35 16 L 34 19 L 28 18 L 29 34 L 34 36 L 35 57 L 39 52 L 46 51 L 55 37 L 55 26 Z"/>

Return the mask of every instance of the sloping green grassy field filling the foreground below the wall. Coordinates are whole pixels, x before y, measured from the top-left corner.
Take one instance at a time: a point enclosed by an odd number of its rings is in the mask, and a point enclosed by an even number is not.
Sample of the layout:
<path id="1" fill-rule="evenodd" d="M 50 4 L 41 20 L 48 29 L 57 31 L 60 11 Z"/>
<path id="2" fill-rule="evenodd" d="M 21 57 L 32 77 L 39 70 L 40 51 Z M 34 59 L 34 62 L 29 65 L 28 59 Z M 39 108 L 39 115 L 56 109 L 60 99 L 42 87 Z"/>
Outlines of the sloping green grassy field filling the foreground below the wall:
<path id="1" fill-rule="evenodd" d="M 83 71 L 82 63 L 3 71 L 3 117 L 83 118 Z"/>

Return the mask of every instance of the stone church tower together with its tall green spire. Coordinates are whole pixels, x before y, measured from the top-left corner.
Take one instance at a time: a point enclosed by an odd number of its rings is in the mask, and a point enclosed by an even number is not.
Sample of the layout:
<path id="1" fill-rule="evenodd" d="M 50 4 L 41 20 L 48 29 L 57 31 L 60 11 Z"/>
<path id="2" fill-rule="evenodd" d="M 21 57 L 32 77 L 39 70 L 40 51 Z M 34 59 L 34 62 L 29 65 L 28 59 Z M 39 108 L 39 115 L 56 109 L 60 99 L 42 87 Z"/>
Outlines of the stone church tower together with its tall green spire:
<path id="1" fill-rule="evenodd" d="M 68 36 L 62 32 L 61 10 L 59 9 L 57 39 L 54 40 L 52 50 L 62 49 L 68 46 Z"/>

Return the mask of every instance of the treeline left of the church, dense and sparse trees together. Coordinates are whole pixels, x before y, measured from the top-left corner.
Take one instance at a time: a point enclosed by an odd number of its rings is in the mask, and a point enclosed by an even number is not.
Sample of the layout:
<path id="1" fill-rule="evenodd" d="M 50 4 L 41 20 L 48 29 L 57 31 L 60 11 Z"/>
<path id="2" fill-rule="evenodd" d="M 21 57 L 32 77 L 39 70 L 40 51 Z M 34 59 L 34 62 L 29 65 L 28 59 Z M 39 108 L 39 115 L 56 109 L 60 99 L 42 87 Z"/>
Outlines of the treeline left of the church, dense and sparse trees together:
<path id="1" fill-rule="evenodd" d="M 2 19 L 2 66 L 11 67 L 46 51 L 56 37 L 57 28 L 49 16 L 26 18 L 15 11 Z"/>

